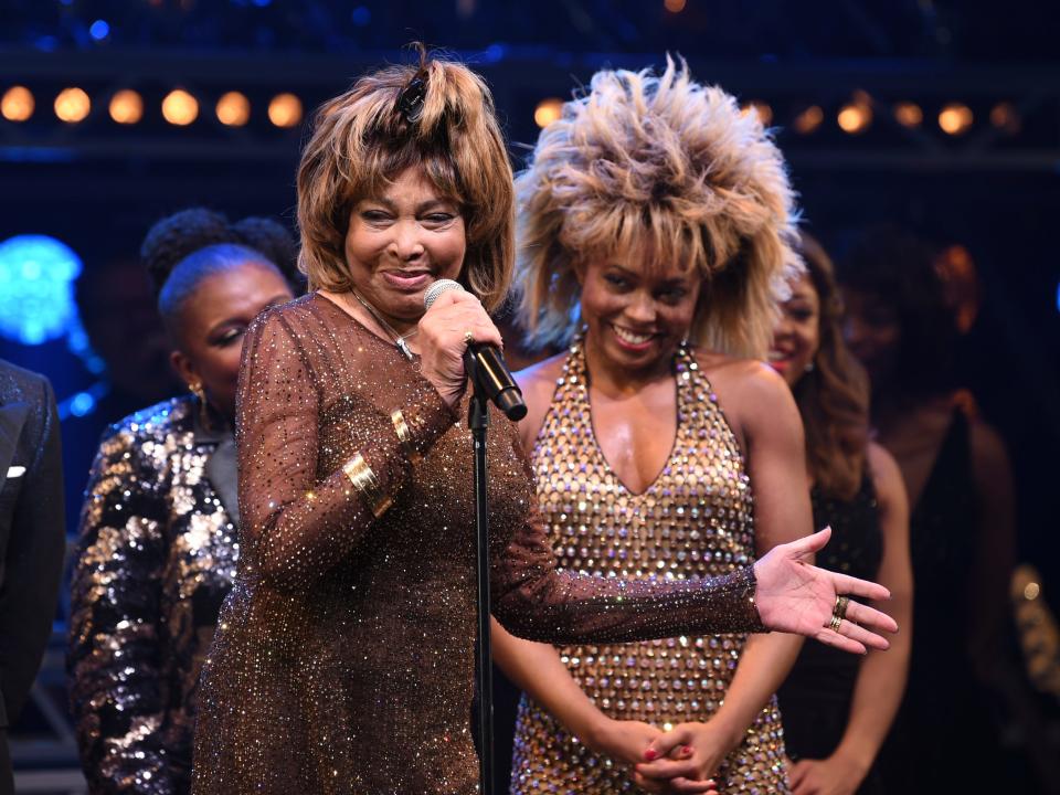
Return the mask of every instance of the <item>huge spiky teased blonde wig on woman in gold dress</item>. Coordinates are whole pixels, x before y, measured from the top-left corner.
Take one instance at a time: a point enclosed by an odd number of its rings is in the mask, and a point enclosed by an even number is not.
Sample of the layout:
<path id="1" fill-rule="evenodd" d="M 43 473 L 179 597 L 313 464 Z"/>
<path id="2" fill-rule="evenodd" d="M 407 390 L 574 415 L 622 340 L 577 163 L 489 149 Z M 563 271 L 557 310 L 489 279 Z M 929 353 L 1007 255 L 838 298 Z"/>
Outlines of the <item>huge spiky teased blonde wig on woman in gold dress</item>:
<path id="1" fill-rule="evenodd" d="M 576 330 L 577 268 L 649 252 L 702 278 L 690 339 L 764 358 L 801 269 L 784 160 L 754 113 L 666 71 L 602 71 L 563 105 L 516 179 L 519 315 L 534 347 Z M 650 263 L 648 263 L 650 264 Z"/>

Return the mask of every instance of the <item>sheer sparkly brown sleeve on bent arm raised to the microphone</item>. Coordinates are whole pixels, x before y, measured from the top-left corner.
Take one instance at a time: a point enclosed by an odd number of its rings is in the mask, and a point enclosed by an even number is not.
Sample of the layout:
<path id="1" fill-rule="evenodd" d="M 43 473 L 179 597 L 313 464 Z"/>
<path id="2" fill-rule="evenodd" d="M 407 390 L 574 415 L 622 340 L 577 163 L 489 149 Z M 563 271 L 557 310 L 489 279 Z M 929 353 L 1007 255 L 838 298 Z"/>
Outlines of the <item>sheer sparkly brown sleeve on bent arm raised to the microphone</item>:
<path id="1" fill-rule="evenodd" d="M 360 451 L 377 483 L 356 488 L 343 466 L 318 473 L 321 361 L 309 335 L 277 310 L 247 332 L 237 395 L 241 533 L 258 575 L 305 589 L 330 570 L 370 531 L 379 504 L 411 473 L 411 463 L 390 423 L 380 423 Z M 314 359 L 317 359 L 315 362 Z M 434 390 L 425 390 L 410 418 L 412 444 L 427 449 L 455 420 Z M 246 554 L 245 553 L 245 554 Z"/>

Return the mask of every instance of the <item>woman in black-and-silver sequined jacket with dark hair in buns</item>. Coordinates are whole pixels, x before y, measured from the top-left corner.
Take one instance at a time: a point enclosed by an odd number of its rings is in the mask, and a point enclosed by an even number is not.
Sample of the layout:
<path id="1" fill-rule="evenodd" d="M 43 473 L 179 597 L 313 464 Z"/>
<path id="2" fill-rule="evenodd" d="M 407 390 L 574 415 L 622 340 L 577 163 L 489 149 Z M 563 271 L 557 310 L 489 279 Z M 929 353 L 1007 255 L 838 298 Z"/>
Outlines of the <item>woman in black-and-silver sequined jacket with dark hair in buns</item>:
<path id="1" fill-rule="evenodd" d="M 191 394 L 112 426 L 88 481 L 67 668 L 93 793 L 190 788 L 199 671 L 239 554 L 240 351 L 254 317 L 293 297 L 279 267 L 292 252 L 278 224 L 208 210 L 159 221 L 144 243 Z"/>

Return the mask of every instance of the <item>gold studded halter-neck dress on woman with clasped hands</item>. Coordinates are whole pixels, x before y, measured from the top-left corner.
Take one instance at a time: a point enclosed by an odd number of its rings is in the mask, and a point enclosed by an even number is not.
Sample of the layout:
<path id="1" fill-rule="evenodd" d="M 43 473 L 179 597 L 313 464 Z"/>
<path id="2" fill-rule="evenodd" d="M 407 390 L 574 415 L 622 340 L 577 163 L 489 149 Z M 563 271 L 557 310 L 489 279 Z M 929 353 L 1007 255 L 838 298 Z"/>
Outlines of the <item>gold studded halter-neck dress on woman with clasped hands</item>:
<path id="1" fill-rule="evenodd" d="M 564 363 L 532 463 L 549 540 L 563 570 L 602 576 L 696 581 L 754 560 L 751 485 L 718 398 L 692 353 L 676 357 L 677 438 L 662 471 L 633 494 L 593 432 L 584 346 Z M 662 728 L 706 721 L 718 709 L 746 635 L 681 636 L 560 655 L 605 714 Z M 759 713 L 714 777 L 722 793 L 787 792 L 776 698 Z M 628 771 L 580 744 L 526 696 L 519 706 L 511 792 L 639 792 Z"/>

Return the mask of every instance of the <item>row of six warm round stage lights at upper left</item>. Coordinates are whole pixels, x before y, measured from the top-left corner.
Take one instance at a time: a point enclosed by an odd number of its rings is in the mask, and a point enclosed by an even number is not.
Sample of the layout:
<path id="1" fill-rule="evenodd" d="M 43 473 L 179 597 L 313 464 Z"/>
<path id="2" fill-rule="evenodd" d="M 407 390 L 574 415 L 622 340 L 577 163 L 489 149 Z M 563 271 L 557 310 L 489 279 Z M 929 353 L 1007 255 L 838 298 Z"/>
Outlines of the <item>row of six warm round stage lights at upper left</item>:
<path id="1" fill-rule="evenodd" d="M 56 118 L 67 124 L 84 121 L 92 112 L 92 98 L 83 88 L 63 88 L 52 103 Z M 144 118 L 144 97 L 131 88 L 110 95 L 110 118 L 120 125 L 135 125 Z M 12 86 L 0 97 L 0 116 L 8 121 L 28 121 L 36 110 L 36 99 L 25 86 Z M 161 103 L 162 118 L 178 127 L 192 124 L 200 103 L 183 88 L 174 88 Z M 251 100 L 240 92 L 229 92 L 214 106 L 218 120 L 227 127 L 242 127 L 251 119 Z M 268 103 L 268 120 L 276 127 L 296 127 L 303 117 L 301 100 L 294 94 L 277 94 Z"/>

